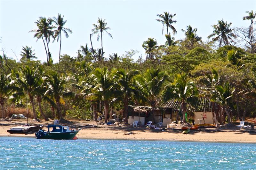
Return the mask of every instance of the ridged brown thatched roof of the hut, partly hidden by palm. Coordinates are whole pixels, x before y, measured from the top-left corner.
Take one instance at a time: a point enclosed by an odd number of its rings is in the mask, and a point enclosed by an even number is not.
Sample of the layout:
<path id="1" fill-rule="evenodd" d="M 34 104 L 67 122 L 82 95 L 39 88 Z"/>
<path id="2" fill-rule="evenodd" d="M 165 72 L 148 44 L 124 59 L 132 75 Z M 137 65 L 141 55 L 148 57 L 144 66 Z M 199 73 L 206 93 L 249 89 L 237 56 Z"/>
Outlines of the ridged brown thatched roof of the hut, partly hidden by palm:
<path id="1" fill-rule="evenodd" d="M 180 107 L 180 102 L 178 100 L 172 99 L 161 105 L 164 108 L 173 108 L 178 110 Z M 187 111 L 190 112 L 212 112 L 212 103 L 209 98 L 199 98 L 198 106 L 195 107 L 191 104 L 187 104 Z"/>

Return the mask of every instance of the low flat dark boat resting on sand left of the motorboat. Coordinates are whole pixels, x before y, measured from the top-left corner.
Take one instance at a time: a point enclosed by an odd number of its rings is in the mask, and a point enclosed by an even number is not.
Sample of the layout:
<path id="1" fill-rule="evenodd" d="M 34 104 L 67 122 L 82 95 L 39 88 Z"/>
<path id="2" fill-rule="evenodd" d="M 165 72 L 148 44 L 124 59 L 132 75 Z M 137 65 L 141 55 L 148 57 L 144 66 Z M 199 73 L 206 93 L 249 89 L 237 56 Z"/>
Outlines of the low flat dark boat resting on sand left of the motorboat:
<path id="1" fill-rule="evenodd" d="M 35 132 L 40 129 L 43 129 L 44 125 L 25 125 L 25 126 L 16 126 L 7 130 L 9 133 L 29 133 Z"/>

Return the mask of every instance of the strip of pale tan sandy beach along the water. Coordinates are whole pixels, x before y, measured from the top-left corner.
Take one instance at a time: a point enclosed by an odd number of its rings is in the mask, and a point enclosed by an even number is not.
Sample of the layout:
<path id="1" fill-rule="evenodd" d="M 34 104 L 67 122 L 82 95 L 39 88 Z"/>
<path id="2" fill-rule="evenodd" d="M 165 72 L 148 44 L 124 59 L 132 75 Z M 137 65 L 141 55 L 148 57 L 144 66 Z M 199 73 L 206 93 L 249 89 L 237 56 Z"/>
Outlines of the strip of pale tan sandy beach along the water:
<path id="1" fill-rule="evenodd" d="M 0 120 L 0 137 L 19 136 L 35 137 L 35 134 L 10 134 L 11 127 L 26 124 L 27 120 Z M 53 124 L 53 120 L 34 122 L 29 119 L 29 124 Z M 182 134 L 181 129 L 149 129 L 145 127 L 132 128 L 132 125 L 97 125 L 97 122 L 69 121 L 63 123 L 70 128 L 84 128 L 76 135 L 84 139 L 126 139 L 126 140 L 167 140 L 167 141 L 200 141 L 200 142 L 231 142 L 231 143 L 255 143 L 256 129 L 219 129 L 199 128 L 191 130 L 188 134 Z M 96 126 L 95 126 L 96 125 Z M 165 127 L 166 128 L 166 127 Z M 46 128 L 44 128 L 46 129 Z M 133 132 L 130 135 L 124 135 Z"/>

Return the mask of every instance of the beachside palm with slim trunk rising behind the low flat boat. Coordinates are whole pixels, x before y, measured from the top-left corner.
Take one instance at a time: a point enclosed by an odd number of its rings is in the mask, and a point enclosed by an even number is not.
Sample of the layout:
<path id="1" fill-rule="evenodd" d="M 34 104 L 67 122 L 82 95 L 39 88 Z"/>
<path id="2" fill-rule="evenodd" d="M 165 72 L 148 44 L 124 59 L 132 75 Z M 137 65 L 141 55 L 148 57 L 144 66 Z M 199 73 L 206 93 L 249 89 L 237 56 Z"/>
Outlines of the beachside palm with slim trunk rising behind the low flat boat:
<path id="1" fill-rule="evenodd" d="M 24 68 L 21 68 L 21 76 L 16 79 L 18 83 L 21 85 L 21 87 L 23 88 L 23 92 L 28 93 L 29 100 L 32 105 L 34 119 L 36 119 L 39 122 L 39 119 L 36 116 L 35 103 L 34 103 L 36 87 L 39 84 L 38 78 L 39 76 L 35 67 L 30 68 L 29 66 L 25 66 Z"/>

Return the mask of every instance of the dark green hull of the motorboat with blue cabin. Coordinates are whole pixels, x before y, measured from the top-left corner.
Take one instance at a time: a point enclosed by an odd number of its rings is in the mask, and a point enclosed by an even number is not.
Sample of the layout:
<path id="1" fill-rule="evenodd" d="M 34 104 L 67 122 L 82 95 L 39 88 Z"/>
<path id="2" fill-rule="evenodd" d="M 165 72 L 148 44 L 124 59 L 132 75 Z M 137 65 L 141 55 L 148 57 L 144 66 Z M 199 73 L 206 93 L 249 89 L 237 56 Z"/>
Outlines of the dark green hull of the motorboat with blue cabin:
<path id="1" fill-rule="evenodd" d="M 39 133 L 39 134 L 38 134 Z M 69 139 L 73 139 L 76 134 L 78 133 L 77 131 L 73 131 L 73 132 L 55 132 L 55 133 L 48 133 L 48 132 L 44 132 L 40 134 L 40 131 L 36 132 L 36 138 L 37 139 L 54 139 L 54 140 L 69 140 Z"/>

